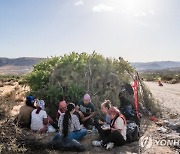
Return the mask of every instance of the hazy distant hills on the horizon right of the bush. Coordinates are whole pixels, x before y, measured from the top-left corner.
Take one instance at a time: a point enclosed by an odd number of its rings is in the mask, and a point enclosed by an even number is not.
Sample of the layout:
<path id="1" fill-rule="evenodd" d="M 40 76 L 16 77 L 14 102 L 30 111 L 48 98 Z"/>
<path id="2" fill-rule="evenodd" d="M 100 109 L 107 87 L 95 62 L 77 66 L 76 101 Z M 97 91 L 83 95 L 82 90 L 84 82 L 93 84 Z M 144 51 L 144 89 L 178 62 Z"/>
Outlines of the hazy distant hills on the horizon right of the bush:
<path id="1" fill-rule="evenodd" d="M 138 71 L 149 71 L 149 70 L 179 70 L 180 62 L 175 61 L 157 61 L 157 62 L 133 62 L 133 67 Z"/>

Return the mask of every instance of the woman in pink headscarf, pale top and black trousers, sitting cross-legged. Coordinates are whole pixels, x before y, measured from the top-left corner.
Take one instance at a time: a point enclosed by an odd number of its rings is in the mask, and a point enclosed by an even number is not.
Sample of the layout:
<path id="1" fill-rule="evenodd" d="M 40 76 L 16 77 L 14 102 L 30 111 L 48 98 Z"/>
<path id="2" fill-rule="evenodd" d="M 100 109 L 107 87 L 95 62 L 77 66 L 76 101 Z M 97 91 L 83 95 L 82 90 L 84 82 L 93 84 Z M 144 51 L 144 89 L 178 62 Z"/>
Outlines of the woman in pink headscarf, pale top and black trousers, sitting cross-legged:
<path id="1" fill-rule="evenodd" d="M 116 146 L 121 146 L 126 143 L 126 119 L 121 112 L 114 106 L 108 111 L 111 124 L 110 127 L 104 129 L 110 129 L 109 134 L 102 141 L 93 141 L 94 146 L 104 146 L 106 149 L 111 149 Z"/>

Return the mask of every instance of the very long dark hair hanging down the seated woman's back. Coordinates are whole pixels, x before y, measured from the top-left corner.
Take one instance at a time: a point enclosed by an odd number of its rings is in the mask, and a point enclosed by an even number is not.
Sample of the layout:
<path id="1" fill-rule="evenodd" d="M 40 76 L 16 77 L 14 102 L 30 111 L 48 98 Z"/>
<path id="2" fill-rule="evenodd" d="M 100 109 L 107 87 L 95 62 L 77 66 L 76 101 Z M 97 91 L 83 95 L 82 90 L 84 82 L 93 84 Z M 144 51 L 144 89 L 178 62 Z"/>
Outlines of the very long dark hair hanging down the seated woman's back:
<path id="1" fill-rule="evenodd" d="M 67 105 L 67 110 L 64 114 L 64 119 L 63 119 L 63 135 L 64 135 L 64 138 L 67 137 L 67 135 L 68 135 L 69 121 L 71 120 L 70 112 L 74 109 L 75 109 L 75 105 L 73 103 L 69 103 Z"/>

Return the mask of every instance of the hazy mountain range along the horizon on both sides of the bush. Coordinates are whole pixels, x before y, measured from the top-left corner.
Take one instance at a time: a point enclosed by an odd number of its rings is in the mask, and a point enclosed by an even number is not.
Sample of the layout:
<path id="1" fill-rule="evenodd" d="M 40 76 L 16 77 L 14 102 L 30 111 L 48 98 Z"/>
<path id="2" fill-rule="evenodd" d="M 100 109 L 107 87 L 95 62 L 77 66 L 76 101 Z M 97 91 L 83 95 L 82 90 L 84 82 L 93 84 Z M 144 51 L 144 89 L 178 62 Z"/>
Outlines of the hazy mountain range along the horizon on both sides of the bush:
<path id="1" fill-rule="evenodd" d="M 21 57 L 4 58 L 0 57 L 0 75 L 20 75 L 31 72 L 33 65 L 45 58 Z M 132 62 L 130 63 L 137 71 L 157 70 L 180 70 L 180 61 L 155 61 L 155 62 Z"/>

